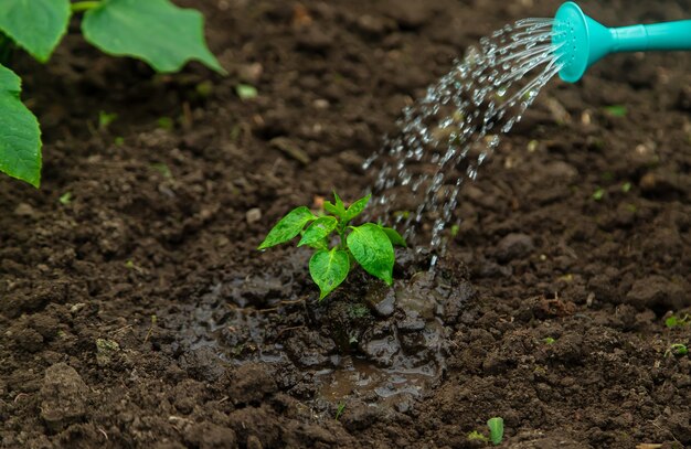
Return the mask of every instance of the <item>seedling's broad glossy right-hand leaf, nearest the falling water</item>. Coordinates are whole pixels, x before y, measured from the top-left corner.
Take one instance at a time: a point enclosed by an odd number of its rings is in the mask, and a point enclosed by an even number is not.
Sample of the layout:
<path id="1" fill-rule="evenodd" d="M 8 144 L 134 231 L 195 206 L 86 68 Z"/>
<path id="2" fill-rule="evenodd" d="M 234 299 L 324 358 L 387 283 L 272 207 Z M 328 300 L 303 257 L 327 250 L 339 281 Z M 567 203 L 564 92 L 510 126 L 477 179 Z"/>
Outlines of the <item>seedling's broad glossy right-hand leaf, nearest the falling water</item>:
<path id="1" fill-rule="evenodd" d="M 393 282 L 393 245 L 384 231 L 373 223 L 351 227 L 348 248 L 358 264 L 370 275 L 391 285 Z"/>

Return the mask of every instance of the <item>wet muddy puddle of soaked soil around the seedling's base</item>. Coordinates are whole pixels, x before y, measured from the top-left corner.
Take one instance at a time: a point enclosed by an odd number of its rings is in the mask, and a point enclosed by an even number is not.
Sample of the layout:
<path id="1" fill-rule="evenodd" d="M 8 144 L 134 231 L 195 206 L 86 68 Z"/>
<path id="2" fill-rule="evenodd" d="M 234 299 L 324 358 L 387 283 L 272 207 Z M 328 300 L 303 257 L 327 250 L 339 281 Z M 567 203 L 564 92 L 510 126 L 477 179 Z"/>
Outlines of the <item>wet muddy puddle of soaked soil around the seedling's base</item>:
<path id="1" fill-rule="evenodd" d="M 440 381 L 474 289 L 463 268 L 432 272 L 403 259 L 393 288 L 355 274 L 318 302 L 294 281 L 300 276 L 249 274 L 211 286 L 199 303 L 161 313 L 161 322 L 174 327 L 179 353 L 202 354 L 210 373 L 264 363 L 301 399 L 359 398 L 404 410 Z"/>

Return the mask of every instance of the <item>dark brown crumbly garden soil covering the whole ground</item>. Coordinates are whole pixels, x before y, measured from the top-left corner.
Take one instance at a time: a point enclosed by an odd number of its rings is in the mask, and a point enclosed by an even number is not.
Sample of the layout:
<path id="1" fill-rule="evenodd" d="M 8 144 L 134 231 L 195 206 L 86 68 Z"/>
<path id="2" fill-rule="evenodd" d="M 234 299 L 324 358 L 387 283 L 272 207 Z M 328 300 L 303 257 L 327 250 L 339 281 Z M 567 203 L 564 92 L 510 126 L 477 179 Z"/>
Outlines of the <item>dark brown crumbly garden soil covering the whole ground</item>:
<path id="1" fill-rule="evenodd" d="M 395 292 L 358 272 L 319 304 L 302 252 L 254 250 L 289 209 L 366 189 L 361 162 L 467 45 L 559 3 L 185 0 L 228 77 L 76 34 L 17 61 L 45 170 L 40 191 L 0 178 L 2 447 L 474 448 L 492 416 L 503 447 L 691 446 L 691 359 L 668 351 L 691 327 L 665 325 L 691 313 L 687 54 L 550 84 L 465 186 L 436 274 L 402 252 Z"/>

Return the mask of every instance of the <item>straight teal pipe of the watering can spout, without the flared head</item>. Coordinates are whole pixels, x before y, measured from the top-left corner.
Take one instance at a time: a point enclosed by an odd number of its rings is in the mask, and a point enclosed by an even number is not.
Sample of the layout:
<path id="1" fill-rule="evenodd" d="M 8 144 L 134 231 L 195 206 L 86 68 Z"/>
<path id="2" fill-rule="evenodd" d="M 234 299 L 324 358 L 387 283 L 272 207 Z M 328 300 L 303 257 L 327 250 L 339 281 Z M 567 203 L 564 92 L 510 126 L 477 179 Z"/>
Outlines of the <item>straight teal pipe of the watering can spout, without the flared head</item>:
<path id="1" fill-rule="evenodd" d="M 691 50 L 691 20 L 609 29 L 612 52 Z"/>

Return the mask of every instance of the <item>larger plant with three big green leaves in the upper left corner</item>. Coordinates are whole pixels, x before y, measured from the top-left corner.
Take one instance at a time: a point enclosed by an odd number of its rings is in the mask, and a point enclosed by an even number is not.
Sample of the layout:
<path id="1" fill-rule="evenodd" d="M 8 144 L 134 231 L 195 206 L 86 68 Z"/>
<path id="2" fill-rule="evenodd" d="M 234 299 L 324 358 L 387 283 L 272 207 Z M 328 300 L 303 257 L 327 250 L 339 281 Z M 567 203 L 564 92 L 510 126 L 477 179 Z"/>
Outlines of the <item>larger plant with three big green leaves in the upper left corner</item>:
<path id="1" fill-rule="evenodd" d="M 7 67 L 14 47 L 46 62 L 83 13 L 84 39 L 114 56 L 132 56 L 157 72 L 178 72 L 191 60 L 225 73 L 204 40 L 203 17 L 170 0 L 0 1 L 0 171 L 39 186 L 41 129 L 20 100 L 21 79 Z"/>

